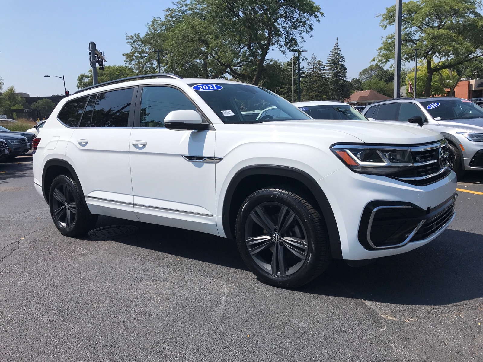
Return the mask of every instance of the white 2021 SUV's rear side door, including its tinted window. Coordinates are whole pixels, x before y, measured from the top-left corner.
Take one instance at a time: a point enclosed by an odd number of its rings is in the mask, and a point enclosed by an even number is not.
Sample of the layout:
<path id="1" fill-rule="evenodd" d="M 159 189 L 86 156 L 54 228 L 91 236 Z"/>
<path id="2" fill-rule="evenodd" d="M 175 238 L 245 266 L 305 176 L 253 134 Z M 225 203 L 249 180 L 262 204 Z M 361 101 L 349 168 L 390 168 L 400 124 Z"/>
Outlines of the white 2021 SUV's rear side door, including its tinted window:
<path id="1" fill-rule="evenodd" d="M 91 95 L 69 140 L 66 158 L 92 213 L 138 220 L 129 159 L 136 92 L 131 87 Z"/>

